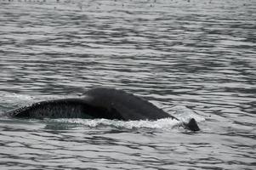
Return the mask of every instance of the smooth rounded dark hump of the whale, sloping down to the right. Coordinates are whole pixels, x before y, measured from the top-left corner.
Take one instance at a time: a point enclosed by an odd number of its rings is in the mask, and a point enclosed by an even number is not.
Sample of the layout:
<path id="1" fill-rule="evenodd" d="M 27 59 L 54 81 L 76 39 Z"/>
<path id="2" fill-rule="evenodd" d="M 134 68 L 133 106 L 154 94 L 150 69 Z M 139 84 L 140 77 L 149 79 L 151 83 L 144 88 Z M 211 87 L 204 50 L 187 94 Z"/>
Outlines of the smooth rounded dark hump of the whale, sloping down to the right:
<path id="1" fill-rule="evenodd" d="M 84 94 L 84 101 L 88 105 L 103 107 L 111 113 L 122 117 L 122 120 L 174 118 L 174 116 L 162 111 L 147 100 L 115 88 L 94 88 L 88 90 Z"/>

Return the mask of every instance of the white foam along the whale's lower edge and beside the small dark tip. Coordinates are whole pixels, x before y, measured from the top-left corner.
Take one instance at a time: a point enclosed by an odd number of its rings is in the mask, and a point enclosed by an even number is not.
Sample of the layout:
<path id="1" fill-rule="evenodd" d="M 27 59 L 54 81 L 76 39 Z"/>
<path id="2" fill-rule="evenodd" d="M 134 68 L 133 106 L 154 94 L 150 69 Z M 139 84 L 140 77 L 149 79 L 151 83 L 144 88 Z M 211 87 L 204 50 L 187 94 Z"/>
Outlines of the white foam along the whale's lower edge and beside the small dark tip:
<path id="1" fill-rule="evenodd" d="M 185 106 L 174 106 L 169 108 L 169 114 L 176 116 L 178 120 L 172 118 L 158 119 L 156 121 L 140 120 L 140 121 L 118 121 L 118 120 L 108 120 L 108 119 L 45 119 L 46 123 L 64 123 L 75 126 L 85 126 L 90 128 L 101 128 L 101 127 L 114 127 L 118 129 L 137 129 L 137 128 L 151 128 L 151 129 L 161 129 L 170 130 L 180 127 L 183 122 L 189 122 L 191 118 L 195 118 L 196 122 L 203 122 L 205 118 L 196 114 L 196 112 Z"/>

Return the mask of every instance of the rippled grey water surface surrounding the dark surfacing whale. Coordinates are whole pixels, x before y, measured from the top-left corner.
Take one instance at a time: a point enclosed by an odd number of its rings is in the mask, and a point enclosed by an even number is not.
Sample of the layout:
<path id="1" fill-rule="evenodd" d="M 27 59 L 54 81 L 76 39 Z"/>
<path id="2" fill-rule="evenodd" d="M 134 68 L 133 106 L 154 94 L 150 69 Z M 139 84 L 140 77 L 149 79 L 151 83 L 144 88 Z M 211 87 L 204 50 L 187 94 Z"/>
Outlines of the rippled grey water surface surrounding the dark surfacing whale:
<path id="1" fill-rule="evenodd" d="M 2 118 L 0 168 L 255 169 L 255 23 L 253 0 L 1 0 L 0 112 L 105 86 L 202 131 Z"/>

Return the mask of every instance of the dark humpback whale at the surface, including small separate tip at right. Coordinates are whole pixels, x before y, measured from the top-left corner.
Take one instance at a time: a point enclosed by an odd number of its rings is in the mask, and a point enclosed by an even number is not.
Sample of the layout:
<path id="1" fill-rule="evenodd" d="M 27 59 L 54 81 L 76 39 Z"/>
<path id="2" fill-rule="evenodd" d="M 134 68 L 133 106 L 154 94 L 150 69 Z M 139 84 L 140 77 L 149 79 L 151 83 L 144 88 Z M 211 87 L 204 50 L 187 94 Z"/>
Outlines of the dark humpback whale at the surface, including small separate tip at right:
<path id="1" fill-rule="evenodd" d="M 116 88 L 93 88 L 80 98 L 45 100 L 8 111 L 3 116 L 35 119 L 105 118 L 123 121 L 170 117 L 179 121 L 146 99 Z M 191 131 L 200 130 L 194 118 L 190 122 L 184 122 L 183 126 Z"/>

